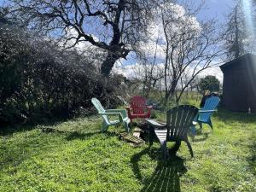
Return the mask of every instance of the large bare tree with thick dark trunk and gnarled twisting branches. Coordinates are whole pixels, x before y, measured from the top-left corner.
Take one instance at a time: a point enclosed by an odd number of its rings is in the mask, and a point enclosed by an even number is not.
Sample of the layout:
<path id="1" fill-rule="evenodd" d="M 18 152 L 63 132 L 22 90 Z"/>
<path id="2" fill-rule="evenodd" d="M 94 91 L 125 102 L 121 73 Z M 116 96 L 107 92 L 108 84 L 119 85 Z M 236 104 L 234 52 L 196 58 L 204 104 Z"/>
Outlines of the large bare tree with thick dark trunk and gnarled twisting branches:
<path id="1" fill-rule="evenodd" d="M 119 58 L 146 34 L 154 0 L 12 0 L 23 23 L 65 41 L 89 42 L 106 53 L 101 73 L 108 76 Z M 73 30 L 72 35 L 67 35 Z"/>

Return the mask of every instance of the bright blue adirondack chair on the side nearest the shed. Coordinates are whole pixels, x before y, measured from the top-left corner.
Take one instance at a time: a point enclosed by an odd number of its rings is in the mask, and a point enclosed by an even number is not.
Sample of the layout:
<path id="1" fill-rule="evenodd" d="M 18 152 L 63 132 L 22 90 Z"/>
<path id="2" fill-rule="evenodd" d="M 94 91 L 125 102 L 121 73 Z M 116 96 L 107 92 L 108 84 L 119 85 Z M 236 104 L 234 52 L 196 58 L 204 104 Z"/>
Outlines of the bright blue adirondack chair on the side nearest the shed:
<path id="1" fill-rule="evenodd" d="M 194 121 L 199 124 L 201 130 L 202 130 L 202 124 L 207 124 L 211 128 L 213 128 L 211 116 L 213 112 L 217 111 L 216 108 L 218 107 L 219 102 L 220 102 L 220 99 L 218 98 L 218 96 L 211 96 L 207 98 L 204 107 L 198 111 Z M 192 126 L 191 132 L 193 135 L 195 135 L 195 125 Z"/>

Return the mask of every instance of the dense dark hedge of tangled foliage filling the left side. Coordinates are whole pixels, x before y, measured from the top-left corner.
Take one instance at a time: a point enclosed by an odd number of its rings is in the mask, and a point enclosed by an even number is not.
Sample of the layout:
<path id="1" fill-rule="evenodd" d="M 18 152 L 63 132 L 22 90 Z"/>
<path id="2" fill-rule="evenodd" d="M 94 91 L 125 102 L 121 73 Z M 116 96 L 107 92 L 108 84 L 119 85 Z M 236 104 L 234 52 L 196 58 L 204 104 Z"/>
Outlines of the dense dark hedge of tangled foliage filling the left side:
<path id="1" fill-rule="evenodd" d="M 93 96 L 114 105 L 120 81 L 108 81 L 77 51 L 0 27 L 0 123 L 67 118 L 87 111 Z"/>

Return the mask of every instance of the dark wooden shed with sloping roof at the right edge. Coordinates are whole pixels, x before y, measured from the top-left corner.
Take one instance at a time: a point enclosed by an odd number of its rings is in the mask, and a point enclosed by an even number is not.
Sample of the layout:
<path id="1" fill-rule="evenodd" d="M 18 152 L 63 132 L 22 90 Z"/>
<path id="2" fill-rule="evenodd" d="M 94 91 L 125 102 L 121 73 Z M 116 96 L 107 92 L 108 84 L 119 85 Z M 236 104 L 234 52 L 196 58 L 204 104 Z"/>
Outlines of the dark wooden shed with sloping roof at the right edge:
<path id="1" fill-rule="evenodd" d="M 242 55 L 220 69 L 224 73 L 224 108 L 236 112 L 247 112 L 251 108 L 256 112 L 256 55 Z"/>

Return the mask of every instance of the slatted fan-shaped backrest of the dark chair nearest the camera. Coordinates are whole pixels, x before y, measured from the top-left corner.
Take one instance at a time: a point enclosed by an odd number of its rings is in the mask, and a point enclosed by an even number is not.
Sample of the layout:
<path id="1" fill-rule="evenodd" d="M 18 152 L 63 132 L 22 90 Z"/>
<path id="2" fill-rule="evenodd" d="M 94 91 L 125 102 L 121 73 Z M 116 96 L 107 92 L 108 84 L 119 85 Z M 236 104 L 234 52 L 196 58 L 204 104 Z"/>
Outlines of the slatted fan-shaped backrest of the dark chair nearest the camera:
<path id="1" fill-rule="evenodd" d="M 186 137 L 189 127 L 195 118 L 198 108 L 181 105 L 167 111 L 167 137 Z"/>

